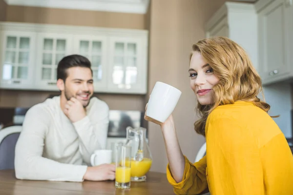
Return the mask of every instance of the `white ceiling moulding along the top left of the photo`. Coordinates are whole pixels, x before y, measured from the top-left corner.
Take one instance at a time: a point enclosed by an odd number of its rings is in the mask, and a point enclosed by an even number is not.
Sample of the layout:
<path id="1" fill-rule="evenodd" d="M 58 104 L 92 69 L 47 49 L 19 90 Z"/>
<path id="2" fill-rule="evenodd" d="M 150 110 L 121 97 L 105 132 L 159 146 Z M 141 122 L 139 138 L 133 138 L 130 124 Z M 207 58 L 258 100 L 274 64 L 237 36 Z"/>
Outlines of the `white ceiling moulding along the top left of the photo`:
<path id="1" fill-rule="evenodd" d="M 149 0 L 4 0 L 8 5 L 145 14 Z"/>

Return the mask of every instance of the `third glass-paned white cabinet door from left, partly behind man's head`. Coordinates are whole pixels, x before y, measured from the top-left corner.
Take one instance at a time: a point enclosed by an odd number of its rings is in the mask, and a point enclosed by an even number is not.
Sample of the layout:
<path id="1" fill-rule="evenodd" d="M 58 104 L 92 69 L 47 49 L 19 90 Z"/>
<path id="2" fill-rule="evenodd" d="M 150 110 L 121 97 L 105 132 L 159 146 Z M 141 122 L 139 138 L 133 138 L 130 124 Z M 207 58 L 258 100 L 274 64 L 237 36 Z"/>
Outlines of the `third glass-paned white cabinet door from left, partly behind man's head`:
<path id="1" fill-rule="evenodd" d="M 76 36 L 75 53 L 88 58 L 93 71 L 94 91 L 106 90 L 107 38 L 98 36 Z"/>

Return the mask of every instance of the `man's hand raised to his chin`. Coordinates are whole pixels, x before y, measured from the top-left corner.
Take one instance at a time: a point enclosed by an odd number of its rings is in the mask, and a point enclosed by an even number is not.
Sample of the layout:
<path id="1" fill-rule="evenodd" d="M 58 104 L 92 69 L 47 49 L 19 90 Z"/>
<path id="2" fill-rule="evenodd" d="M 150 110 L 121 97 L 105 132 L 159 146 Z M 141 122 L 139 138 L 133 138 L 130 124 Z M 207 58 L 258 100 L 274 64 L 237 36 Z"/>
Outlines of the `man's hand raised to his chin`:
<path id="1" fill-rule="evenodd" d="M 76 98 L 70 98 L 70 100 L 66 102 L 64 114 L 71 122 L 77 122 L 86 116 L 83 104 Z"/>

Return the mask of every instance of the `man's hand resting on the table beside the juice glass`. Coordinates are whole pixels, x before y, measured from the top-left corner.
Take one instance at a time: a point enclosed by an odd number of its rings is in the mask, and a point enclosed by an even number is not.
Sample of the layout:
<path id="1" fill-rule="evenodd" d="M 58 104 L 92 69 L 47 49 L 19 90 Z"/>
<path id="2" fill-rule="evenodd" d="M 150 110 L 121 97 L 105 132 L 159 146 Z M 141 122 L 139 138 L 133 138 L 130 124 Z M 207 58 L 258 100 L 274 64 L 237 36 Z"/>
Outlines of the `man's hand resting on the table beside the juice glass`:
<path id="1" fill-rule="evenodd" d="M 101 164 L 99 166 L 87 167 L 84 179 L 91 181 L 114 180 L 115 169 L 115 165 L 113 164 Z"/>

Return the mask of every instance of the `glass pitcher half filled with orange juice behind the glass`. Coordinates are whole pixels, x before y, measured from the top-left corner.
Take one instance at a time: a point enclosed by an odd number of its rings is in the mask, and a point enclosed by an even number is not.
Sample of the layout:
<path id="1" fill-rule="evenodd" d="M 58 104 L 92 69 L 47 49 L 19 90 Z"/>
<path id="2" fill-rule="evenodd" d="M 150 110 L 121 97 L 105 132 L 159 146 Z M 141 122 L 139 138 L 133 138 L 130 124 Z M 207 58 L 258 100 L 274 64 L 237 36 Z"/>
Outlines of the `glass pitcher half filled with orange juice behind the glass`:
<path id="1" fill-rule="evenodd" d="M 145 181 L 152 157 L 146 142 L 146 129 L 126 128 L 126 146 L 131 146 L 131 181 Z"/>

